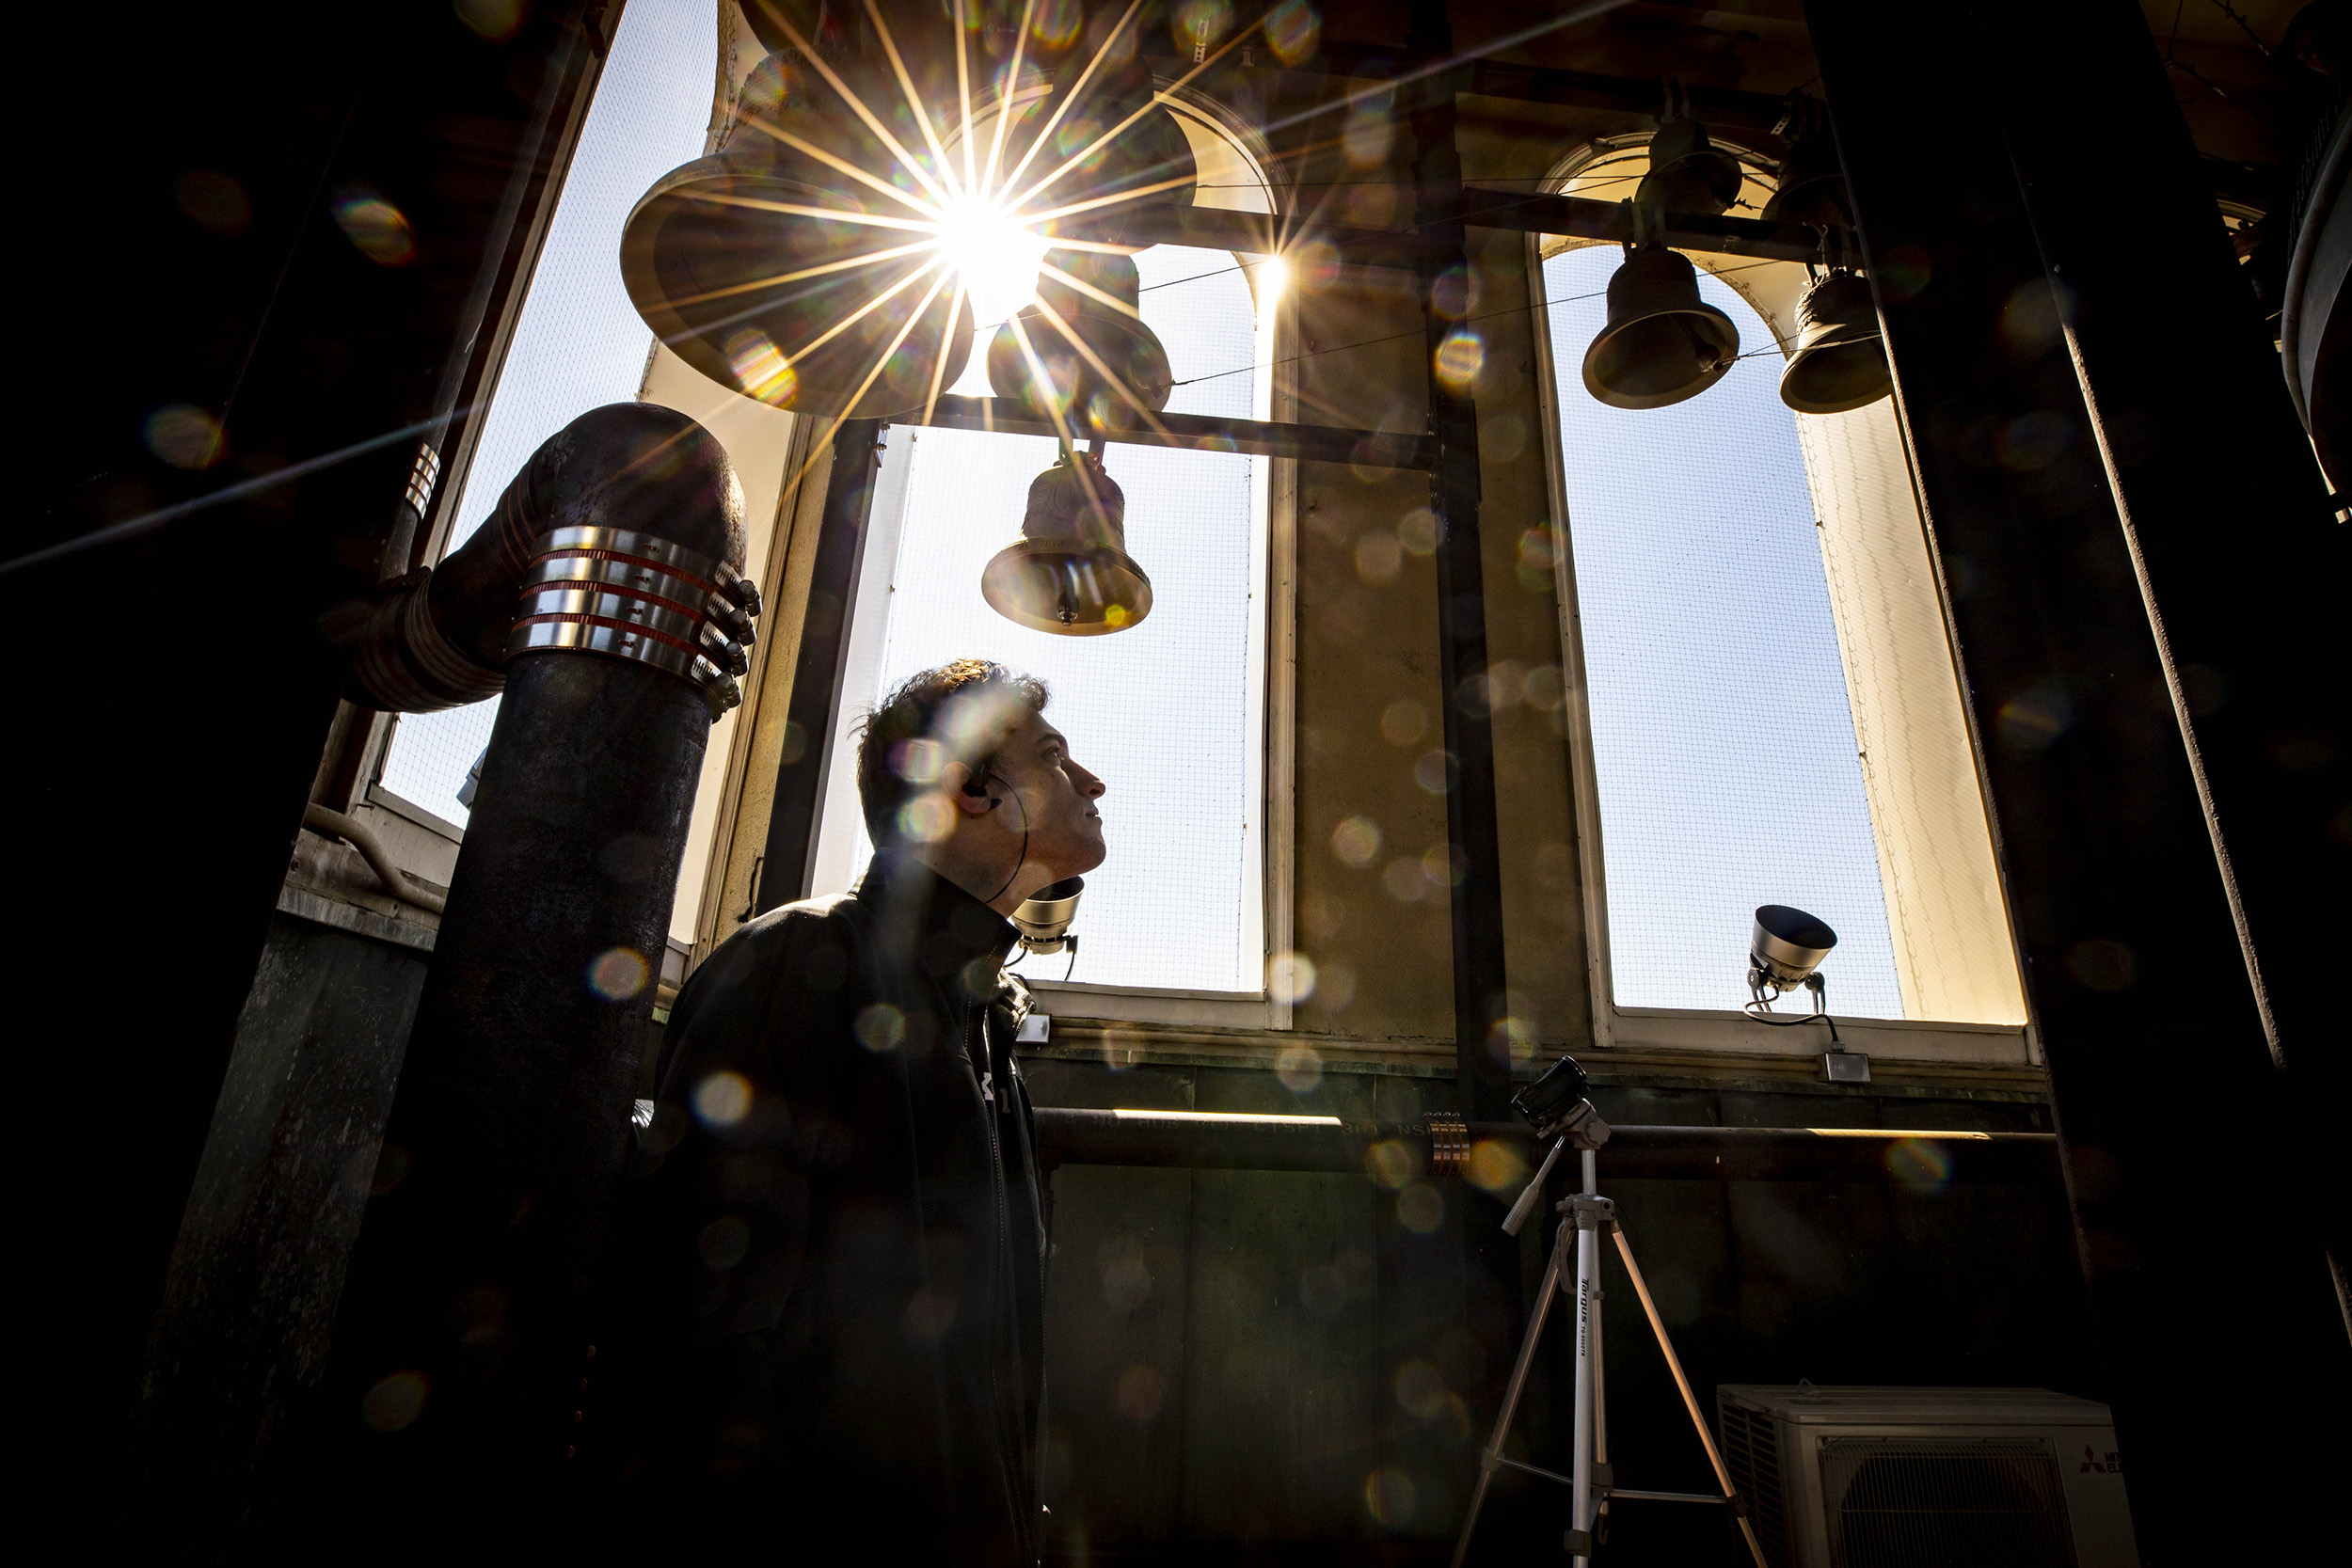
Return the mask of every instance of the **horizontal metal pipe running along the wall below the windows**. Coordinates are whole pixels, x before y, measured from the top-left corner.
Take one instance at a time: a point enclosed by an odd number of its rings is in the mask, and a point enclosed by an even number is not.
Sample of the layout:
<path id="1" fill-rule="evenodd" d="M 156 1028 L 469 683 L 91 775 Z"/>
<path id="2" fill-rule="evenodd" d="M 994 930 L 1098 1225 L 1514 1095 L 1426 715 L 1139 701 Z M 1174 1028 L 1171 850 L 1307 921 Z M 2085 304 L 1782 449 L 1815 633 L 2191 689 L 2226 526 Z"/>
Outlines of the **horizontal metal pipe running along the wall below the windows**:
<path id="1" fill-rule="evenodd" d="M 1501 1143 L 1534 1164 L 1519 1121 L 1472 1121 L 1472 1145 Z M 1037 1159 L 1047 1166 L 1155 1166 L 1188 1171 L 1357 1173 L 1376 1145 L 1402 1143 L 1430 1161 L 1425 1121 L 1338 1117 L 1211 1117 L 1204 1112 L 1037 1112 Z M 1903 1150 L 1903 1168 L 1889 1157 Z M 2051 1133 L 1844 1126 L 1611 1126 L 1613 1180 L 1915 1180 L 2042 1185 L 2058 1175 Z"/>

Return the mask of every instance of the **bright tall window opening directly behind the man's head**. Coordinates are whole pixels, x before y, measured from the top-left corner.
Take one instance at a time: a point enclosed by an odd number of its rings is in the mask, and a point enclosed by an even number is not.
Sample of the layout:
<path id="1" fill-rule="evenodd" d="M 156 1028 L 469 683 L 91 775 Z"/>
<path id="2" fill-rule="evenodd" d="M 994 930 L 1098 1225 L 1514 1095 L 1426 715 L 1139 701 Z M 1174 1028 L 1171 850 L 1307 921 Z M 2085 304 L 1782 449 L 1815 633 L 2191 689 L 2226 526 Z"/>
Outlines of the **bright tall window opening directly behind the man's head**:
<path id="1" fill-rule="evenodd" d="M 1190 127 L 1188 127 L 1190 129 Z M 1258 350 L 1272 277 L 1225 252 L 1136 256 L 1143 320 L 1167 343 L 1169 409 L 1263 418 Z M 976 348 L 983 350 L 988 327 Z M 974 362 L 981 353 L 974 353 Z M 978 371 L 957 390 L 983 393 Z M 851 623 L 816 893 L 856 882 L 873 844 L 856 809 L 854 726 L 908 675 L 981 656 L 1044 677 L 1047 717 L 1110 785 L 1110 860 L 1087 877 L 1075 983 L 1263 990 L 1265 954 L 1265 458 L 1115 444 L 1127 548 L 1152 614 L 1112 637 L 1049 637 L 981 599 L 981 567 L 1021 531 L 1047 437 L 891 428 Z M 1061 980 L 1065 959 L 1030 961 Z"/>

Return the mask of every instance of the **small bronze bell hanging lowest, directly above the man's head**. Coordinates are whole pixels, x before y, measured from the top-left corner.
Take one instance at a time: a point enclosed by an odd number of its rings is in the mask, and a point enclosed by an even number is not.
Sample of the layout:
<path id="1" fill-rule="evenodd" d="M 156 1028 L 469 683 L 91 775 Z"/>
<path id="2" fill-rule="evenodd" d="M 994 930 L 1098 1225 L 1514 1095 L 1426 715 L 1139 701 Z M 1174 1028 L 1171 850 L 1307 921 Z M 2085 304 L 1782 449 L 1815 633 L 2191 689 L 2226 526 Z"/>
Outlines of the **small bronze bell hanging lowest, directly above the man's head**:
<path id="1" fill-rule="evenodd" d="M 1007 621 L 1056 637 L 1124 632 L 1152 614 L 1152 581 L 1127 552 L 1127 494 L 1094 451 L 1063 454 L 1030 482 L 1021 538 L 981 571 Z"/>

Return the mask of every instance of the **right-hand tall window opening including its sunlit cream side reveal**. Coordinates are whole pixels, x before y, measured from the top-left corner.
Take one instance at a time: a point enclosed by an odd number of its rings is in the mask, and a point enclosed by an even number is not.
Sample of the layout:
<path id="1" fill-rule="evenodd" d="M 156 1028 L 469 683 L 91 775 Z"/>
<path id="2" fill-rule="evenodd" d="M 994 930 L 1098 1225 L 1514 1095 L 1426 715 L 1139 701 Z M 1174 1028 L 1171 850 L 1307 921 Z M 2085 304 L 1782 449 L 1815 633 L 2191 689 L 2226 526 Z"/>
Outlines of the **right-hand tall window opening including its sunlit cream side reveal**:
<path id="1" fill-rule="evenodd" d="M 1839 936 L 1832 1013 L 2018 1025 L 1891 407 L 1790 414 L 1771 324 L 1705 270 L 1743 360 L 1668 409 L 1597 402 L 1618 263 L 1543 266 L 1611 1006 L 1736 1009 L 1752 910 L 1788 903 Z"/>

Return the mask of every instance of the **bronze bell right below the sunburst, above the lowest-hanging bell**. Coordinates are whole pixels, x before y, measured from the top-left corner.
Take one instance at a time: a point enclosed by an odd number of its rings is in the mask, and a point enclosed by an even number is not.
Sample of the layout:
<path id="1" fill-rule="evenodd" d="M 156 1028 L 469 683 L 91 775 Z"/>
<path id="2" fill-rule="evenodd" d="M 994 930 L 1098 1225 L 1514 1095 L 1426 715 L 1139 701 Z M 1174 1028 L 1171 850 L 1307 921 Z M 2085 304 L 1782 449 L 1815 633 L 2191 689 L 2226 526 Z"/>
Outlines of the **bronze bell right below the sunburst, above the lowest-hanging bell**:
<path id="1" fill-rule="evenodd" d="M 1091 292 L 1042 277 L 1037 303 L 1004 322 L 988 346 L 990 390 L 1030 418 L 1061 418 L 1080 435 L 1108 430 L 1134 404 L 1152 414 L 1169 407 L 1169 350 L 1136 315 L 1136 259 L 1063 249 L 1051 263 Z"/>

